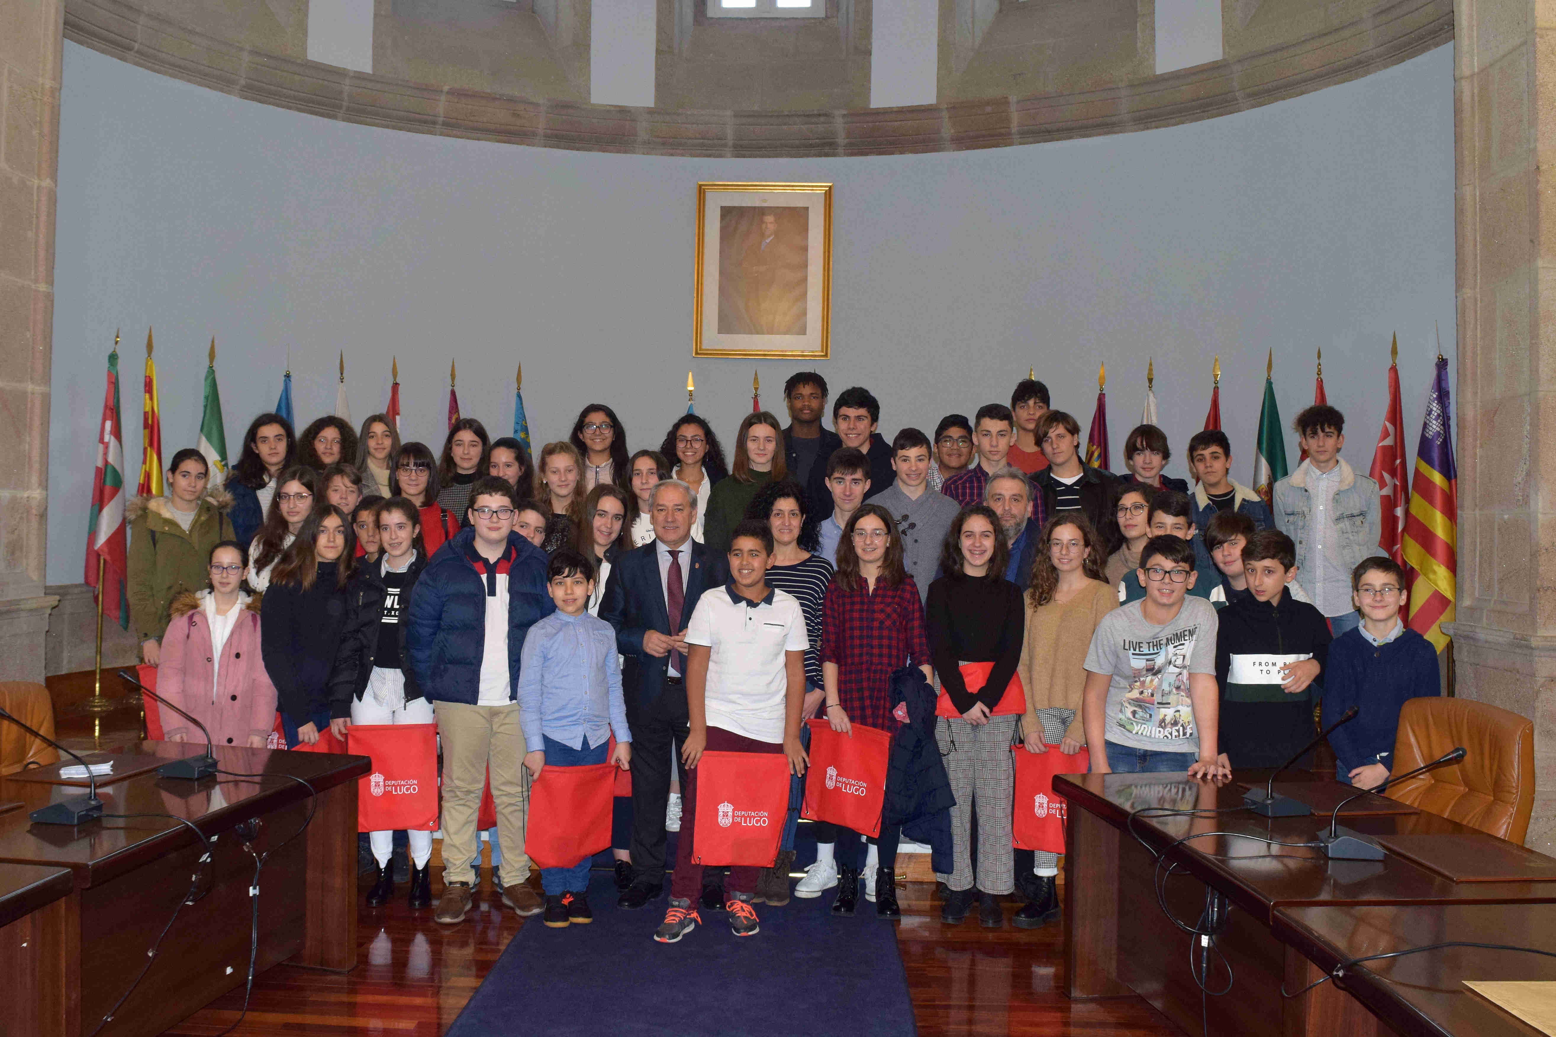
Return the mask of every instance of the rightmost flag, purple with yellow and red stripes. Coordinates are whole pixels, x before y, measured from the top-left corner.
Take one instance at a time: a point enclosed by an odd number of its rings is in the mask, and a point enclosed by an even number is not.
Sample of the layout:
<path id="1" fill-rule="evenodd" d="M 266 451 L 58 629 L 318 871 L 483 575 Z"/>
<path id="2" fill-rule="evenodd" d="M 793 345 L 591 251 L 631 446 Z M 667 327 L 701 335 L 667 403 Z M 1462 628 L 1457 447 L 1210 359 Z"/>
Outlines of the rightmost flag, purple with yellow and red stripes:
<path id="1" fill-rule="evenodd" d="M 1449 644 L 1442 622 L 1453 622 L 1458 572 L 1458 470 L 1449 409 L 1449 362 L 1438 356 L 1438 372 L 1427 393 L 1427 417 L 1416 448 L 1416 477 L 1405 518 L 1405 564 L 1410 566 L 1410 628 L 1438 651 Z"/>

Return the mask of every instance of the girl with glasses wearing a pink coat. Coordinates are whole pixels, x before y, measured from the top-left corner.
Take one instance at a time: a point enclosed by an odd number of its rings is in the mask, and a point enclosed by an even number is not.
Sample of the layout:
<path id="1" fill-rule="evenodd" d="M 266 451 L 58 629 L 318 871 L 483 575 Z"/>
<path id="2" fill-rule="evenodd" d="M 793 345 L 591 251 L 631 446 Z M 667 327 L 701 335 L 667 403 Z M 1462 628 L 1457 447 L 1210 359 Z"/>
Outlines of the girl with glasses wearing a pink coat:
<path id="1" fill-rule="evenodd" d="M 260 595 L 240 589 L 246 571 L 243 546 L 226 539 L 210 552 L 210 586 L 173 599 L 157 692 L 199 717 L 212 745 L 263 749 L 275 726 L 275 686 L 260 658 Z M 201 740 L 188 720 L 157 709 L 168 742 Z"/>

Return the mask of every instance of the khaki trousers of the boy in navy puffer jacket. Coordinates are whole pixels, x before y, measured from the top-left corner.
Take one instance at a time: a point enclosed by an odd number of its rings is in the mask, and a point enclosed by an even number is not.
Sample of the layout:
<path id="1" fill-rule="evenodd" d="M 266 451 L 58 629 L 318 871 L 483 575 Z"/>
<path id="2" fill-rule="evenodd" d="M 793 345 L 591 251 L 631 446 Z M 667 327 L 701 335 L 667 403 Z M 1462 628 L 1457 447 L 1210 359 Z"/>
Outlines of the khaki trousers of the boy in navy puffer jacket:
<path id="1" fill-rule="evenodd" d="M 518 703 L 467 706 L 436 703 L 437 734 L 443 743 L 443 882 L 475 885 L 470 861 L 481 849 L 476 813 L 487 768 L 492 802 L 496 804 L 496 836 L 503 843 L 503 880 L 524 882 L 524 808 L 529 802 L 529 771 L 524 770 L 524 732 L 518 726 Z"/>

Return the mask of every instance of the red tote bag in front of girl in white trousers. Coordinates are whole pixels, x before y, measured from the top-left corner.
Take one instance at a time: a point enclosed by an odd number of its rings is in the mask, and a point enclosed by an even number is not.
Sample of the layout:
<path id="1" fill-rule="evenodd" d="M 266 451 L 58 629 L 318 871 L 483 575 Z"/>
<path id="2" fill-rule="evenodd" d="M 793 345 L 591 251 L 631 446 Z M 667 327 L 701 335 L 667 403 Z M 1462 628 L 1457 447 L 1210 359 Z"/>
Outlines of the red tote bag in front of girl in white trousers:
<path id="1" fill-rule="evenodd" d="M 345 746 L 373 760 L 356 782 L 358 832 L 437 830 L 437 725 L 352 725 Z"/>

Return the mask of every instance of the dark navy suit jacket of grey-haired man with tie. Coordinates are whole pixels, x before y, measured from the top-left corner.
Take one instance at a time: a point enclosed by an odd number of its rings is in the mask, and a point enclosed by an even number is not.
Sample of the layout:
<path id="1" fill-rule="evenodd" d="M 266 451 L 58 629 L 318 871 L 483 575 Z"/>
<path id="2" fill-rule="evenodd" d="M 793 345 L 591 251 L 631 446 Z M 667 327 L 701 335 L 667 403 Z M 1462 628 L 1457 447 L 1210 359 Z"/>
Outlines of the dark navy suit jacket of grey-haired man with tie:
<path id="1" fill-rule="evenodd" d="M 682 606 L 682 630 L 691 622 L 697 599 L 703 591 L 722 588 L 730 581 L 728 560 L 688 539 L 691 571 L 686 574 L 686 603 Z M 669 675 L 669 655 L 650 656 L 643 650 L 643 634 L 657 630 L 671 631 L 669 609 L 664 605 L 664 586 L 660 583 L 658 541 L 650 539 L 643 547 L 626 552 L 610 567 L 605 580 L 605 597 L 599 603 L 599 617 L 616 628 L 616 650 L 621 651 L 621 690 L 629 707 L 652 703 L 664 690 Z"/>

